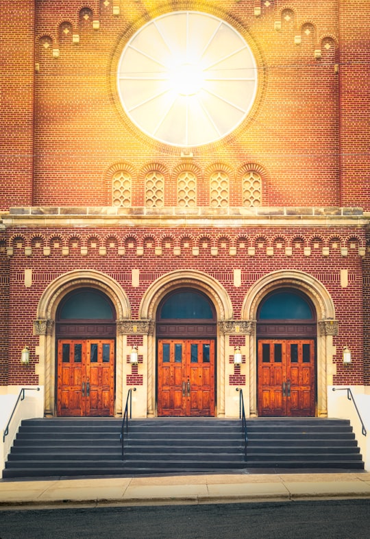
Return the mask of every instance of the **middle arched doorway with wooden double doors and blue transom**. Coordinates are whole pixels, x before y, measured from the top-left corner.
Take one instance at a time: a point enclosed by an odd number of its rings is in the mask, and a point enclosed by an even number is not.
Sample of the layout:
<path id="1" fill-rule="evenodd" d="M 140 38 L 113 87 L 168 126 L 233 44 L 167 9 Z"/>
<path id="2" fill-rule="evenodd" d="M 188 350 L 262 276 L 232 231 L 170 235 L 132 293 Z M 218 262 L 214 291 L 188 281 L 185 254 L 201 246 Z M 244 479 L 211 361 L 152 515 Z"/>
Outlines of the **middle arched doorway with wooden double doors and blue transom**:
<path id="1" fill-rule="evenodd" d="M 214 416 L 217 316 L 195 289 L 171 291 L 156 315 L 158 416 Z"/>

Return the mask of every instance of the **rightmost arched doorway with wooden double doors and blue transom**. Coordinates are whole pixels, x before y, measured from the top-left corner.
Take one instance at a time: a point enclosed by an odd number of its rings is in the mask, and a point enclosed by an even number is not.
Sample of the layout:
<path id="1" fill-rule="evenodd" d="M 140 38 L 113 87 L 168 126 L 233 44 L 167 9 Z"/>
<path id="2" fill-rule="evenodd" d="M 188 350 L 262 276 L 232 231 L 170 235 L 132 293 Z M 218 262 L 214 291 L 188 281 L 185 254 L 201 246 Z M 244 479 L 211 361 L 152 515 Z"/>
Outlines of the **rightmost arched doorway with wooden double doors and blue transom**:
<path id="1" fill-rule="evenodd" d="M 314 416 L 317 316 L 306 294 L 280 288 L 257 311 L 260 416 Z"/>

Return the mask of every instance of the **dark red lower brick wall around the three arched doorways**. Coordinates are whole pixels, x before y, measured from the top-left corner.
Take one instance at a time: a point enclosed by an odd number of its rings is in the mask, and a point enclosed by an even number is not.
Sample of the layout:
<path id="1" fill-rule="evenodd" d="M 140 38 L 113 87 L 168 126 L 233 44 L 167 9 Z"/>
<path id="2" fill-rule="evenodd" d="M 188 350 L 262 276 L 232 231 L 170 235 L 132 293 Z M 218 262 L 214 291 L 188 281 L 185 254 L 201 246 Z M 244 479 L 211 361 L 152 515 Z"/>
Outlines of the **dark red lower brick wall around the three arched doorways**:
<path id="1" fill-rule="evenodd" d="M 140 302 L 153 280 L 175 269 L 192 268 L 213 276 L 225 287 L 232 300 L 234 317 L 240 318 L 240 309 L 249 288 L 256 280 L 278 269 L 297 269 L 314 276 L 328 289 L 340 322 L 338 337 L 334 337 L 337 346 L 338 363 L 335 383 L 361 384 L 364 381 L 362 367 L 362 260 L 358 255 L 358 240 L 361 234 L 353 228 L 322 230 L 302 228 L 295 230 L 248 228 L 248 238 L 240 239 L 238 232 L 229 229 L 217 230 L 217 237 L 211 228 L 193 228 L 192 236 L 182 243 L 183 231 L 179 228 L 157 228 L 147 230 L 111 228 L 108 241 L 99 238 L 106 235 L 106 229 L 95 228 L 95 240 L 91 241 L 91 228 L 79 227 L 77 230 L 60 231 L 49 228 L 12 229 L 10 243 L 14 246 L 10 258 L 10 326 L 12 340 L 9 350 L 9 383 L 36 383 L 32 367 L 24 368 L 19 364 L 19 355 L 25 344 L 30 346 L 32 361 L 35 361 L 34 349 L 38 337 L 32 337 L 32 322 L 36 319 L 36 309 L 45 287 L 58 276 L 73 269 L 95 269 L 116 279 L 127 294 L 132 308 L 132 317 L 138 317 Z M 16 234 L 18 232 L 18 234 Z M 163 232 L 166 232 L 163 239 Z M 356 240 L 356 237 L 358 239 Z M 247 235 L 246 235 L 247 237 Z M 340 239 L 346 237 L 347 256 L 341 252 Z M 311 238 L 311 254 L 304 254 L 304 239 Z M 323 256 L 322 244 L 330 245 L 330 256 Z M 114 242 L 116 239 L 116 242 Z M 243 241 L 242 241 L 243 240 Z M 90 241 L 90 243 L 89 243 Z M 344 240 L 343 240 L 344 241 Z M 230 244 L 236 245 L 236 255 L 230 256 Z M 292 245 L 292 256 L 286 256 L 286 244 Z M 99 247 L 106 246 L 106 255 L 99 254 Z M 174 245 L 182 244 L 180 255 L 174 251 Z M 199 255 L 194 256 L 193 246 L 199 246 Z M 218 246 L 217 256 L 211 254 L 212 244 Z M 248 254 L 248 246 L 254 245 L 255 254 Z M 267 245 L 273 245 L 273 256 Z M 32 252 L 25 256 L 25 246 L 31 246 Z M 43 254 L 43 247 L 49 245 L 50 255 Z M 69 245 L 69 254 L 62 254 L 62 245 Z M 81 246 L 89 245 L 87 254 L 81 254 Z M 122 245 L 125 254 L 118 254 Z M 136 247 L 143 246 L 143 254 L 138 256 Z M 155 246 L 162 245 L 162 255 L 156 256 Z M 270 253 L 270 254 L 269 254 Z M 5 254 L 3 254 L 5 257 Z M 137 287 L 132 286 L 132 268 L 140 270 Z M 234 286 L 234 269 L 241 269 L 241 285 Z M 348 270 L 348 285 L 341 284 L 341 269 Z M 32 286 L 25 287 L 25 269 L 32 269 Z M 137 340 L 139 339 L 139 340 Z M 142 337 L 129 339 L 129 346 L 139 344 Z M 233 337 L 232 344 L 240 337 Z M 343 346 L 351 348 L 353 364 L 343 368 L 341 350 Z"/>

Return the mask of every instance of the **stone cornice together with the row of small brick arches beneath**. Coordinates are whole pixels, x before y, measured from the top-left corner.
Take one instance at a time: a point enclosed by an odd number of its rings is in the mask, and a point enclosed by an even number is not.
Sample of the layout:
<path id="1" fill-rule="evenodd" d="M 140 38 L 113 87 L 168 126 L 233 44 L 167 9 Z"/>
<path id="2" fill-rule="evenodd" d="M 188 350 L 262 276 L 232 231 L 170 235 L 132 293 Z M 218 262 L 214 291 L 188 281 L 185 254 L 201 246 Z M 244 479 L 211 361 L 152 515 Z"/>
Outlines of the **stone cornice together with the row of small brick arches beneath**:
<path id="1" fill-rule="evenodd" d="M 32 256 L 34 253 L 44 256 L 73 256 L 78 253 L 87 256 L 91 252 L 99 253 L 99 256 L 114 252 L 119 256 L 127 252 L 136 252 L 136 256 L 162 256 L 170 253 L 181 256 L 182 251 L 186 250 L 198 256 L 202 250 L 208 249 L 211 256 L 218 256 L 227 249 L 230 256 L 266 254 L 272 257 L 284 254 L 290 257 L 299 253 L 306 257 L 323 256 L 324 259 L 332 252 L 339 252 L 344 258 L 356 251 L 362 258 L 367 254 L 365 236 L 369 221 L 362 217 L 360 220 L 356 211 L 347 216 L 343 210 L 341 217 L 312 216 L 312 221 L 308 222 L 303 217 L 288 220 L 288 215 L 271 215 L 269 221 L 230 213 L 221 217 L 220 212 L 203 209 L 202 215 L 197 217 L 179 213 L 175 219 L 161 213 L 152 217 L 84 215 L 84 221 L 79 221 L 76 215 L 68 218 L 62 215 L 8 215 L 4 217 L 8 219 L 8 232 L 5 232 L 7 238 L 0 252 L 8 256 L 21 252 L 24 256 Z M 92 232 L 94 229 L 107 230 L 109 227 L 109 233 L 101 230 L 97 230 L 96 234 Z M 334 227 L 336 232 L 333 236 Z M 72 228 L 75 229 L 73 236 Z M 163 228 L 166 228 L 166 241 L 163 240 Z M 186 241 L 182 241 L 185 228 Z M 223 235 L 220 235 L 221 228 L 224 229 Z M 299 228 L 299 239 L 296 237 L 296 228 Z M 150 230 L 153 241 L 147 240 L 147 230 Z"/>

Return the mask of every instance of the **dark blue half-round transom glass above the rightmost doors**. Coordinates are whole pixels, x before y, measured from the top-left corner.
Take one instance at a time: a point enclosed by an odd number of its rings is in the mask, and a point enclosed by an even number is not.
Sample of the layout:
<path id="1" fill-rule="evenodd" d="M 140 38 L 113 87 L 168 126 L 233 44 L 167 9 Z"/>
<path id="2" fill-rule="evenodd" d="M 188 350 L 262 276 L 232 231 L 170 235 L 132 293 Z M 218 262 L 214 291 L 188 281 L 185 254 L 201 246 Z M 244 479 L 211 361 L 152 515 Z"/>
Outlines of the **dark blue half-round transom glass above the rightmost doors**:
<path id="1" fill-rule="evenodd" d="M 260 320 L 313 320 L 308 302 L 291 291 L 271 294 L 260 307 Z"/>

